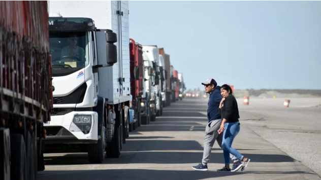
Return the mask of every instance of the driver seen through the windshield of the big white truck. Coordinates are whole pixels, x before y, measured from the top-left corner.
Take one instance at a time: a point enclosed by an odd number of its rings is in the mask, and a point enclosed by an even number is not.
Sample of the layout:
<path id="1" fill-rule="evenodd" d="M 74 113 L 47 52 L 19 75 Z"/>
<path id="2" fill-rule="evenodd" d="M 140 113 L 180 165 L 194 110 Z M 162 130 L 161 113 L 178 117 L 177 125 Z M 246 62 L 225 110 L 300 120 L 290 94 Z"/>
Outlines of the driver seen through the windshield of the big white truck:
<path id="1" fill-rule="evenodd" d="M 69 46 L 65 46 L 61 49 L 61 57 L 63 56 L 76 56 L 80 61 L 85 61 L 85 51 L 81 47 L 77 46 L 77 35 L 71 34 L 68 43 Z"/>

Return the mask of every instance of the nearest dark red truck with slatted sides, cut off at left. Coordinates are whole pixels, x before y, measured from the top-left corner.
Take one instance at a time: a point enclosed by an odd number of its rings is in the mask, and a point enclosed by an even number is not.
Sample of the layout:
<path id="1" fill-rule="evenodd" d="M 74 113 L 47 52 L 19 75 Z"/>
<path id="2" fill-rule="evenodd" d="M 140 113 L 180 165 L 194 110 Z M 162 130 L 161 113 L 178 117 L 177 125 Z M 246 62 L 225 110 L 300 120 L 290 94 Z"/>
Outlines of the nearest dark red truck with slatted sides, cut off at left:
<path id="1" fill-rule="evenodd" d="M 0 9 L 0 179 L 33 180 L 52 110 L 47 1 Z"/>

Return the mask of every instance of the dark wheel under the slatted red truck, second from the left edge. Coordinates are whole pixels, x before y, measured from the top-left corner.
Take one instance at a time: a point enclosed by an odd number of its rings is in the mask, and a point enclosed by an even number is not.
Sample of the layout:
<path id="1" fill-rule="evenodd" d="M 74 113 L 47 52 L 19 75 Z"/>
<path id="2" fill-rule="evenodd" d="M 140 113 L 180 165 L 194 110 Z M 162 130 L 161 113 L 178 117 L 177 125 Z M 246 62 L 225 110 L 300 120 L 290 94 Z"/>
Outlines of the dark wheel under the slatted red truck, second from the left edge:
<path id="1" fill-rule="evenodd" d="M 11 134 L 11 179 L 23 180 L 27 176 L 27 156 L 22 134 Z"/>

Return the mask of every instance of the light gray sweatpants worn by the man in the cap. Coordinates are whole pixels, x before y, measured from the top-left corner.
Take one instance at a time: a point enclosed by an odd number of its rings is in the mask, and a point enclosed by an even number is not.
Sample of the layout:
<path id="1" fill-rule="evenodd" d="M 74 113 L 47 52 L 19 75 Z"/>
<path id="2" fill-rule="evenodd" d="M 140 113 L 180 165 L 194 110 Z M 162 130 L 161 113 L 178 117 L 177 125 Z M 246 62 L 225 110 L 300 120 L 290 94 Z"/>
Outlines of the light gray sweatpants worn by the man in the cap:
<path id="1" fill-rule="evenodd" d="M 205 137 L 204 137 L 204 152 L 203 152 L 203 159 L 202 163 L 207 164 L 210 160 L 211 150 L 213 148 L 215 139 L 217 140 L 218 146 L 222 148 L 222 139 L 223 139 L 223 132 L 218 134 L 217 130 L 219 129 L 222 120 L 214 120 L 211 121 L 205 128 Z M 223 153 L 222 153 L 223 156 Z M 236 156 L 230 154 L 230 158 L 234 163 L 238 163 L 239 159 Z"/>

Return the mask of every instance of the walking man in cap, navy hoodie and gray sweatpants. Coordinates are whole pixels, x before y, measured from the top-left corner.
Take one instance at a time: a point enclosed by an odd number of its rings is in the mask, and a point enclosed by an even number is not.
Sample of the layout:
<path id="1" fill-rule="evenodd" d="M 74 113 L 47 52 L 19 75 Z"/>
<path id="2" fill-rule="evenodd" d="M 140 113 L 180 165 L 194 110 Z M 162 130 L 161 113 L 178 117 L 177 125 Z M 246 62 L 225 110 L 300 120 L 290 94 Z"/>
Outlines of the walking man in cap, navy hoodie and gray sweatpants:
<path id="1" fill-rule="evenodd" d="M 217 140 L 219 147 L 221 148 L 222 146 L 223 133 L 219 134 L 217 130 L 219 129 L 222 123 L 221 116 L 218 112 L 218 107 L 223 97 L 220 93 L 220 86 L 217 86 L 217 83 L 214 79 L 207 79 L 207 81 L 202 83 L 202 85 L 204 85 L 206 93 L 210 94 L 207 103 L 208 124 L 205 128 L 206 135 L 204 137 L 204 152 L 202 163 L 200 163 L 197 166 L 192 166 L 192 168 L 195 170 L 207 171 L 207 163 L 210 160 L 211 149 L 213 148 L 215 139 Z M 234 162 L 231 171 L 233 172 L 239 170 L 242 167 L 242 163 L 232 154 L 230 154 L 230 158 Z"/>

